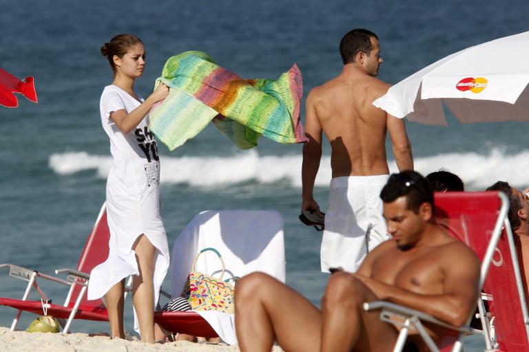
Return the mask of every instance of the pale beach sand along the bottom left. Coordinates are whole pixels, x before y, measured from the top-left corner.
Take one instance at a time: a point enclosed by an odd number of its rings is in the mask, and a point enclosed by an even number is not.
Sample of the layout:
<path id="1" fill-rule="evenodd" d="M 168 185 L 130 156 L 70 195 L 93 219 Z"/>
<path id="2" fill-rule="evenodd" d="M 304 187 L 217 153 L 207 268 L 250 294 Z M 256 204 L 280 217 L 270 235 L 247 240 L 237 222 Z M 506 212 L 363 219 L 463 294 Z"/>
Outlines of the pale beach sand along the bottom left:
<path id="1" fill-rule="evenodd" d="M 9 331 L 0 327 L 0 351 L 21 352 L 236 352 L 238 346 L 225 344 L 192 343 L 187 341 L 167 342 L 165 344 L 145 344 L 138 340 L 112 340 L 104 336 L 90 337 L 86 333 L 27 333 Z M 282 352 L 274 346 L 273 352 Z"/>

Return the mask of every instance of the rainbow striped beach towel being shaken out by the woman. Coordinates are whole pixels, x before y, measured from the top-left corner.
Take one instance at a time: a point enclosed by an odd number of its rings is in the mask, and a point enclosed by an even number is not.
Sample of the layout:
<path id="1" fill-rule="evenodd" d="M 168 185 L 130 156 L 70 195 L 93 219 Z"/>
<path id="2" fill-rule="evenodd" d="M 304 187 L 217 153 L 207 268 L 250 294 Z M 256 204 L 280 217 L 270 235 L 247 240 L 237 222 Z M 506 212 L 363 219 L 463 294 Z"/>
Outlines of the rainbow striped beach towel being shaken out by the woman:
<path id="1" fill-rule="evenodd" d="M 169 87 L 169 96 L 152 108 L 149 128 L 170 150 L 211 121 L 242 149 L 255 147 L 261 135 L 280 143 L 307 141 L 300 122 L 302 76 L 296 64 L 277 81 L 241 79 L 205 52 L 184 52 L 167 60 L 156 85 L 160 82 Z"/>

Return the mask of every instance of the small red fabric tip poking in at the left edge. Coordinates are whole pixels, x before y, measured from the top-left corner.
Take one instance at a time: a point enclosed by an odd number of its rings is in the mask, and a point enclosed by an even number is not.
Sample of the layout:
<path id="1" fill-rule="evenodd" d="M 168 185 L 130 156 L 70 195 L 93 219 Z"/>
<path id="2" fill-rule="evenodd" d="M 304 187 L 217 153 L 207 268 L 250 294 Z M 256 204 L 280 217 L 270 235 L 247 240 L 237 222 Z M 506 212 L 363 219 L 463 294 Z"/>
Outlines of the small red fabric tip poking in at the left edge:
<path id="1" fill-rule="evenodd" d="M 37 103 L 33 77 L 20 80 L 0 68 L 0 105 L 6 107 L 19 106 L 19 101 L 14 93 L 22 94 L 33 103 Z"/>

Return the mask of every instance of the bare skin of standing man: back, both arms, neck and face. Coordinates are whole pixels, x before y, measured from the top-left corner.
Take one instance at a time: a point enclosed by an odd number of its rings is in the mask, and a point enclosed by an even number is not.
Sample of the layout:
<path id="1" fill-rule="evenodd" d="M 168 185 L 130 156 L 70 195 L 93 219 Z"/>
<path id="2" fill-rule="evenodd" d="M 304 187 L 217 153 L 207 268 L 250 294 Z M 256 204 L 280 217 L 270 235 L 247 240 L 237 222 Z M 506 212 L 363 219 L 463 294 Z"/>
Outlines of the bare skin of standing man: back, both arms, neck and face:
<path id="1" fill-rule="evenodd" d="M 303 147 L 302 210 L 321 215 L 312 193 L 322 156 L 322 132 L 331 143 L 333 178 L 388 174 L 386 131 L 399 170 L 413 169 L 404 120 L 373 105 L 389 85 L 375 78 L 383 61 L 378 39 L 370 37 L 370 41 L 369 53 L 357 52 L 339 76 L 307 96 L 305 134 L 309 142 Z"/>

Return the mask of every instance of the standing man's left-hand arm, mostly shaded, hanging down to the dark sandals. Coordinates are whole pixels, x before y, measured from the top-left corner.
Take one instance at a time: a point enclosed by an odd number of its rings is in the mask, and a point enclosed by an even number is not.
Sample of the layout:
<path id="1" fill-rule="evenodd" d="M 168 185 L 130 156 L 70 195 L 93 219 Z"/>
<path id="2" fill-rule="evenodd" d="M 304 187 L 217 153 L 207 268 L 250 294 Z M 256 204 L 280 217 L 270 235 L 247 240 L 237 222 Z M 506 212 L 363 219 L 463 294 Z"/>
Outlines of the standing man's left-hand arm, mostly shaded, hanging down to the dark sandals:
<path id="1" fill-rule="evenodd" d="M 309 141 L 303 145 L 303 164 L 301 169 L 302 205 L 301 210 L 315 210 L 322 216 L 320 206 L 313 197 L 314 182 L 322 158 L 322 125 L 313 103 L 313 90 L 305 103 L 305 135 Z"/>

